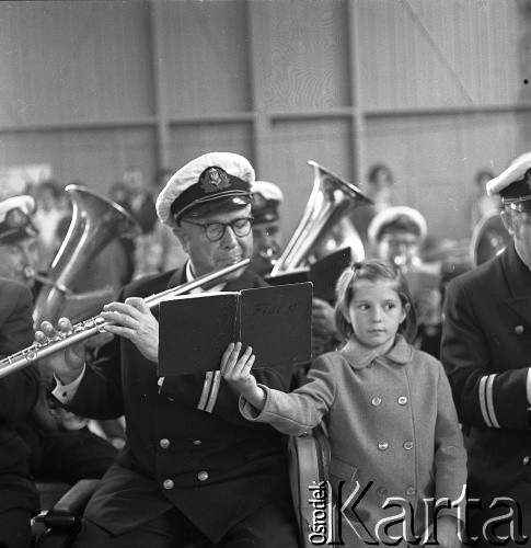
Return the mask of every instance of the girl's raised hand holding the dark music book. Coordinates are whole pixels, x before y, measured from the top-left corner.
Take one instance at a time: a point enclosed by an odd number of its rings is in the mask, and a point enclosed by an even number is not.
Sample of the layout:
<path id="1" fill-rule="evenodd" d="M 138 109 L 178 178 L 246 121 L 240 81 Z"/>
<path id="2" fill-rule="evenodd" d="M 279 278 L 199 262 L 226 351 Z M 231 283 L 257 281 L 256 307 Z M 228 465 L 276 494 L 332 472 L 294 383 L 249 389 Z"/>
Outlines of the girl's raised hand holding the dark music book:
<path id="1" fill-rule="evenodd" d="M 256 379 L 251 375 L 255 356 L 253 349 L 247 346 L 240 356 L 242 343 L 230 343 L 221 356 L 221 375 L 229 385 L 238 390 L 252 406 L 261 410 L 264 407 L 265 392 L 258 388 Z"/>

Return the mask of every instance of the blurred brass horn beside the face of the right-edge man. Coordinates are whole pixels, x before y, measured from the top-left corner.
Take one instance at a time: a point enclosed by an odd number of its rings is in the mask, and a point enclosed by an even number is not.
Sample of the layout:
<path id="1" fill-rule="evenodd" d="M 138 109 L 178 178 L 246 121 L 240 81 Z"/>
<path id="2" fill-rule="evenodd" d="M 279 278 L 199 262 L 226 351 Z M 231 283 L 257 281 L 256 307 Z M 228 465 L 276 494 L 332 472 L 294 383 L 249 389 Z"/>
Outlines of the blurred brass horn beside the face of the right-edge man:
<path id="1" fill-rule="evenodd" d="M 510 240 L 511 236 L 505 228 L 498 212 L 493 212 L 483 217 L 474 227 L 470 243 L 472 266 L 480 266 L 480 264 L 494 259 L 504 251 Z"/>

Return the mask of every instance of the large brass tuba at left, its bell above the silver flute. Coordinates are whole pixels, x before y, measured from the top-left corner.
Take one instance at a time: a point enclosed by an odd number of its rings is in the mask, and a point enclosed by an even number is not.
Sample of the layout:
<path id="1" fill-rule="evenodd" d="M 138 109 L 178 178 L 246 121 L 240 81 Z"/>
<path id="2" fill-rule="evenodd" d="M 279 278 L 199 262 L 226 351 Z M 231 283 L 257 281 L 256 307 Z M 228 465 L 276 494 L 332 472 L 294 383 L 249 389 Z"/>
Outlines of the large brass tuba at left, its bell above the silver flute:
<path id="1" fill-rule="evenodd" d="M 65 191 L 72 202 L 72 220 L 38 293 L 33 311 L 35 329 L 39 329 L 44 320 L 55 323 L 61 316 L 68 316 L 77 321 L 94 315 L 94 309 L 101 310 L 115 296 L 117 288 L 74 294 L 73 285 L 112 240 L 125 236 L 132 238 L 141 232 L 135 218 L 111 199 L 74 184 L 68 185 Z M 43 367 L 39 369 L 42 388 L 32 412 L 34 419 L 47 431 L 81 427 L 83 420 L 54 409 L 51 376 Z"/>

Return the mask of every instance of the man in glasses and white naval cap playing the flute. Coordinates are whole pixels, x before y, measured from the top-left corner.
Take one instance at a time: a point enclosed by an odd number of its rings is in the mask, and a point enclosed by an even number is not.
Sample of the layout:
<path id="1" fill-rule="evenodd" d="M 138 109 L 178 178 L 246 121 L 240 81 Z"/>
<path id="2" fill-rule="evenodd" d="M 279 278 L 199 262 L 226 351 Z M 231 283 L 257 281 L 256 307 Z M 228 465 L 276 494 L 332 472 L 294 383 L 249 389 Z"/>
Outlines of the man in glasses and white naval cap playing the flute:
<path id="1" fill-rule="evenodd" d="M 230 152 L 207 153 L 180 169 L 157 210 L 189 260 L 132 282 L 119 302 L 105 307 L 102 317 L 116 322 L 105 329 L 119 336 L 94 364 L 84 365 L 77 346 L 49 361 L 58 381 L 54 393 L 68 409 L 97 418 L 125 414 L 127 424 L 127 444 L 89 503 L 74 546 L 298 546 L 281 436 L 241 416 L 219 364 L 207 374 L 159 378 L 158 321 L 140 298 L 251 256 L 254 178 L 251 163 Z M 240 269 L 204 289 L 263 285 Z M 289 388 L 289 367 L 254 374 L 267 386 Z"/>

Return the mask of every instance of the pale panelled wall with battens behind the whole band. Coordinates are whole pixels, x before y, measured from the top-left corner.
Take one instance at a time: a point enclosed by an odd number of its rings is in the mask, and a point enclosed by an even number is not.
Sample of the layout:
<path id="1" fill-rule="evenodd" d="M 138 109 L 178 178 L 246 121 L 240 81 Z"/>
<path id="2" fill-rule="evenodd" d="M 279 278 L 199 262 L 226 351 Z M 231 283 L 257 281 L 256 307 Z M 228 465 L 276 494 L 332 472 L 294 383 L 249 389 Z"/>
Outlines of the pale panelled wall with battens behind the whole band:
<path id="1" fill-rule="evenodd" d="M 531 148 L 529 0 L 0 2 L 0 168 L 103 193 L 206 151 L 246 156 L 297 226 L 314 160 L 373 162 L 438 237 L 482 168 Z"/>

